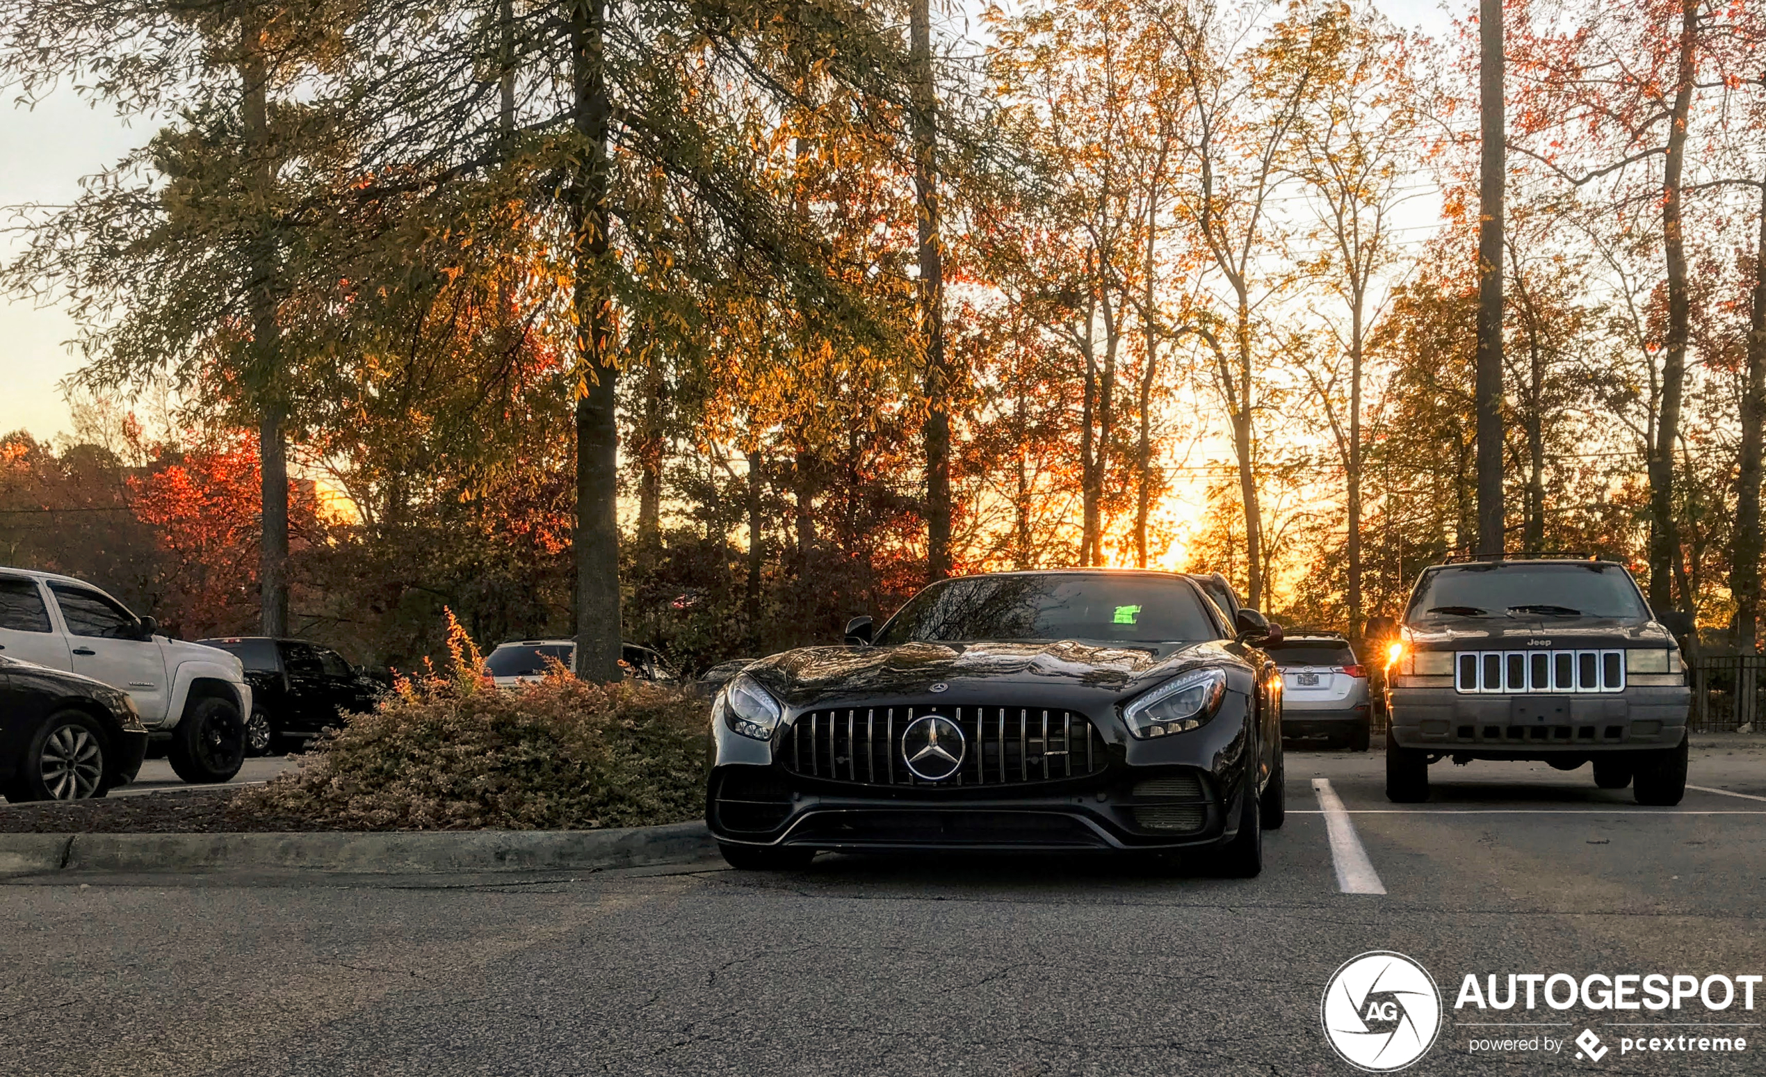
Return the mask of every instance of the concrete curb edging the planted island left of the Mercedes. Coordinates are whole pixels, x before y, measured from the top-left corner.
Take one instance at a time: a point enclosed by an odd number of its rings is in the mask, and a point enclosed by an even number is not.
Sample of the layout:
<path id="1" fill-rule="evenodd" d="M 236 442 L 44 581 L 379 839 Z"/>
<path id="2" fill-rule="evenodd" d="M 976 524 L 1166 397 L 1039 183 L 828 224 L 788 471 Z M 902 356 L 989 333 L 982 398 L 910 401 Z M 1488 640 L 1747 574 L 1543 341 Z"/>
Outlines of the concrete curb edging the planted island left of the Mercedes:
<path id="1" fill-rule="evenodd" d="M 298 869 L 355 874 L 595 870 L 717 853 L 705 823 L 394 833 L 0 833 L 0 874 Z"/>

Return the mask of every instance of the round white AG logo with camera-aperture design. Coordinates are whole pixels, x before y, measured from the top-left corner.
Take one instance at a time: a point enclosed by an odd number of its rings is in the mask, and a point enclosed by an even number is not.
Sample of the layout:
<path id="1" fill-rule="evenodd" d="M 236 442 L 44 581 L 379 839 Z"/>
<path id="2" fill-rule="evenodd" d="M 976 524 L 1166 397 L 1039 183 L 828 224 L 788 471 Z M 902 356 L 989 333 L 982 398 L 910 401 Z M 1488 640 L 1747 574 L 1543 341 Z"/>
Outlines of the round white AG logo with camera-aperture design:
<path id="1" fill-rule="evenodd" d="M 1342 1061 L 1386 1073 L 1415 1063 L 1441 1031 L 1441 992 L 1429 971 L 1390 950 L 1351 957 L 1321 1005 L 1324 1038 Z"/>

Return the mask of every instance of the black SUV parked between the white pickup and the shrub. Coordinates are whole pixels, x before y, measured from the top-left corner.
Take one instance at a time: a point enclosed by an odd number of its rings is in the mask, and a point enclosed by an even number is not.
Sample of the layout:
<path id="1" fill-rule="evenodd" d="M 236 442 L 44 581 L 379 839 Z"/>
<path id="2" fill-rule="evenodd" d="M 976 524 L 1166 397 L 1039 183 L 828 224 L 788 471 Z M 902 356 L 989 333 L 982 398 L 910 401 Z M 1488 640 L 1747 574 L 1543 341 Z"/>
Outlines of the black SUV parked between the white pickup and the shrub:
<path id="1" fill-rule="evenodd" d="M 344 713 L 374 708 L 390 678 L 351 666 L 343 655 L 306 639 L 228 636 L 200 639 L 238 657 L 251 685 L 245 752 L 270 756 L 336 726 Z"/>

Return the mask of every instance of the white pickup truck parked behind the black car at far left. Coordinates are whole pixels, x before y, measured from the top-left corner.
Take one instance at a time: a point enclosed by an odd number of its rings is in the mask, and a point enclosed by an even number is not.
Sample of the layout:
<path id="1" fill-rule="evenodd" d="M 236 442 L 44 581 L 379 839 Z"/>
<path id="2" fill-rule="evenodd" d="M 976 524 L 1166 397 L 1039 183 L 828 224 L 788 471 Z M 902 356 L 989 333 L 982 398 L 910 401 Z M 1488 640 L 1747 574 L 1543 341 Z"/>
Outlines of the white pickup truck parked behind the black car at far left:
<path id="1" fill-rule="evenodd" d="M 223 650 L 157 629 L 88 583 L 0 567 L 0 653 L 122 689 L 148 727 L 148 754 L 162 743 L 185 782 L 226 782 L 245 759 L 245 671 Z"/>

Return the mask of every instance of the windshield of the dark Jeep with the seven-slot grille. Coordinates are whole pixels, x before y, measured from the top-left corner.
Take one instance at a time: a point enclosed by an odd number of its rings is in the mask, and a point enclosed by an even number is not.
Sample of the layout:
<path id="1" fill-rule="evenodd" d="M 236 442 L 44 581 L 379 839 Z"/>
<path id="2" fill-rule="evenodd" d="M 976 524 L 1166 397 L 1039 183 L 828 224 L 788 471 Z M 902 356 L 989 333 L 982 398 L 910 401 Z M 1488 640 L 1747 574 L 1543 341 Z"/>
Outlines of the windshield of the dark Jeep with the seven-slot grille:
<path id="1" fill-rule="evenodd" d="M 1637 584 L 1619 565 L 1496 561 L 1430 570 L 1418 584 L 1406 620 L 1462 616 L 1641 620 L 1648 611 Z"/>

